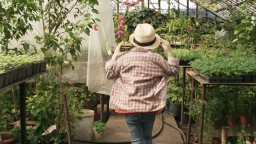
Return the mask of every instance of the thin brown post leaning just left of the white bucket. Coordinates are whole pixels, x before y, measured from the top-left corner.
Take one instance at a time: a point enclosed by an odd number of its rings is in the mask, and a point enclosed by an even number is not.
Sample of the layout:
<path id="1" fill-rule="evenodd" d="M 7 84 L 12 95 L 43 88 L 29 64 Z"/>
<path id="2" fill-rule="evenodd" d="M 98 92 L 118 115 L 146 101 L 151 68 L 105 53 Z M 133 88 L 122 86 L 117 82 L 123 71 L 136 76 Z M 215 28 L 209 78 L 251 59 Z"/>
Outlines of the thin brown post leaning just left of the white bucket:
<path id="1" fill-rule="evenodd" d="M 65 121 L 66 121 L 66 129 L 67 129 L 67 136 L 68 136 L 68 144 L 72 144 L 72 136 L 70 130 L 70 122 L 69 122 L 69 113 L 68 113 L 68 106 L 67 106 L 67 95 L 62 94 L 63 106 L 65 111 Z"/>

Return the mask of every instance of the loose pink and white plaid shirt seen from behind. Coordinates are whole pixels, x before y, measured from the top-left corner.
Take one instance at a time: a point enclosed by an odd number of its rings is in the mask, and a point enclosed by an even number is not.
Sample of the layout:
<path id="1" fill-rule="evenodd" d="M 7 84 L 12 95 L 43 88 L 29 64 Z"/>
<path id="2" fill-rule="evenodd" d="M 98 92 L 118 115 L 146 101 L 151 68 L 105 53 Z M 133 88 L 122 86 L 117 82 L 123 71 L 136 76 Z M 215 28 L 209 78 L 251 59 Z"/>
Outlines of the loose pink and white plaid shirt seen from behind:
<path id="1" fill-rule="evenodd" d="M 178 74 L 179 59 L 133 48 L 106 62 L 106 76 L 117 79 L 110 94 L 109 107 L 120 111 L 152 112 L 165 107 L 167 76 Z"/>

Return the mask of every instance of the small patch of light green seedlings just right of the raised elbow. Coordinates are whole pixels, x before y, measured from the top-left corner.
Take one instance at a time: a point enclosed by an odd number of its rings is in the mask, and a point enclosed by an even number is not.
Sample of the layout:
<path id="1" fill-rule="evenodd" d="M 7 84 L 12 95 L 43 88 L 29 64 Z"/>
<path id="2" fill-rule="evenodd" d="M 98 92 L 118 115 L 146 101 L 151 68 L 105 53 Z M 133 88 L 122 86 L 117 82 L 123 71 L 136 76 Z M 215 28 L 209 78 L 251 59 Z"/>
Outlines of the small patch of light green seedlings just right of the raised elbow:
<path id="1" fill-rule="evenodd" d="M 198 58 L 197 52 L 187 49 L 173 49 L 174 57 L 178 58 L 180 61 L 194 61 Z"/>

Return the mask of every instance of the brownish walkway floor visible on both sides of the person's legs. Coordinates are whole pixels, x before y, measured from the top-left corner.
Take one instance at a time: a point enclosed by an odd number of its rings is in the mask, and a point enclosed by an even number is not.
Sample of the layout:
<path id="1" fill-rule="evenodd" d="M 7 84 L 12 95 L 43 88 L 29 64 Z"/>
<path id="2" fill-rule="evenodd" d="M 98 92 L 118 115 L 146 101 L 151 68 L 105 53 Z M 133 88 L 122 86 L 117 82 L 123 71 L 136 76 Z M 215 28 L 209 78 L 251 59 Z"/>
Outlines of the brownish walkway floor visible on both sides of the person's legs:
<path id="1" fill-rule="evenodd" d="M 174 117 L 168 115 L 166 112 L 163 113 L 165 121 L 178 127 Z M 153 128 L 153 134 L 160 128 L 160 118 L 156 117 L 155 124 Z M 102 142 L 116 142 L 116 141 L 131 141 L 130 135 L 126 127 L 125 117 L 123 114 L 112 113 L 110 116 L 105 131 L 103 132 L 100 141 Z M 183 143 L 181 134 L 174 129 L 164 124 L 164 128 L 161 133 L 153 139 L 154 144 L 167 144 L 167 143 Z"/>

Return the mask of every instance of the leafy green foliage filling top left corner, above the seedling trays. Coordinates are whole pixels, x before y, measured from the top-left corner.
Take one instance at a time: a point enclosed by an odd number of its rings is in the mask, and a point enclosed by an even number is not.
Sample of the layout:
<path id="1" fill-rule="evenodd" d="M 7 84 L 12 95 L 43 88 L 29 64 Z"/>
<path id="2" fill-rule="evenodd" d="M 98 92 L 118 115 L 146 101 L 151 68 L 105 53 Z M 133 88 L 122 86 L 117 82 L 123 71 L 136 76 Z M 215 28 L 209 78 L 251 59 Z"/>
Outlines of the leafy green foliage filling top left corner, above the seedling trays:
<path id="1" fill-rule="evenodd" d="M 18 40 L 28 31 L 31 31 L 31 22 L 38 21 L 38 1 L 12 0 L 0 1 L 0 44 L 5 53 L 10 50 L 18 51 L 19 49 L 10 49 L 9 41 Z M 24 41 L 23 41 L 24 42 Z M 24 50 L 28 48 L 27 43 L 22 43 Z"/>

